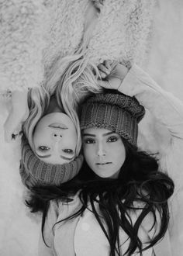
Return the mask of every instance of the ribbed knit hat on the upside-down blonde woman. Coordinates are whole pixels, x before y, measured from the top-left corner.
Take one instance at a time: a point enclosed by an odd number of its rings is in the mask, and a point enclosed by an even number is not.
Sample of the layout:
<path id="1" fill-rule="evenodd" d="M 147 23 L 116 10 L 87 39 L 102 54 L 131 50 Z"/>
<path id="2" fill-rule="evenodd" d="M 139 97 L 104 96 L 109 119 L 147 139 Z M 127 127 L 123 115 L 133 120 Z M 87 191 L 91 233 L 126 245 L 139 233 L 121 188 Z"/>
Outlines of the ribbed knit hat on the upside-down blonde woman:
<path id="1" fill-rule="evenodd" d="M 66 164 L 47 164 L 41 161 L 29 146 L 26 137 L 22 137 L 22 159 L 19 172 L 22 182 L 28 188 L 34 185 L 60 185 L 68 182 L 78 174 L 83 162 L 83 156 Z"/>

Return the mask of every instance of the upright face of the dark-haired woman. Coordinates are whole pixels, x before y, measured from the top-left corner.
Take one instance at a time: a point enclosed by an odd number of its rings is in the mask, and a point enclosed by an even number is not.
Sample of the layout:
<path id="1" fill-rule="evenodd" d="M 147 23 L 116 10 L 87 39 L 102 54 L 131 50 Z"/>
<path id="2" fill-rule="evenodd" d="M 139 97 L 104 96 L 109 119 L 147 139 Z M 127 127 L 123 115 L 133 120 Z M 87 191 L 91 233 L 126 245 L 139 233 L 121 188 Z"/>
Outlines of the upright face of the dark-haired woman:
<path id="1" fill-rule="evenodd" d="M 82 132 L 85 161 L 96 175 L 117 178 L 126 159 L 126 150 L 119 134 L 103 128 Z"/>

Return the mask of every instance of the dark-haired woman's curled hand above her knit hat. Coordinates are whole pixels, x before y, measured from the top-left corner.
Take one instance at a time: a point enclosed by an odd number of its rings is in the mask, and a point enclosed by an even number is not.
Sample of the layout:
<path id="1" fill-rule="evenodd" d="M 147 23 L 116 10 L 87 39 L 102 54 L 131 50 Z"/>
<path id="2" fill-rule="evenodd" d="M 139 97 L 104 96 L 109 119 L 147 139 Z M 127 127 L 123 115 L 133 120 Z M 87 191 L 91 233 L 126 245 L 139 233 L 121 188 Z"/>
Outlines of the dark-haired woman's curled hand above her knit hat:
<path id="1" fill-rule="evenodd" d="M 117 61 L 104 61 L 98 65 L 98 71 L 102 78 L 98 81 L 99 85 L 117 90 L 128 73 L 128 68 Z"/>

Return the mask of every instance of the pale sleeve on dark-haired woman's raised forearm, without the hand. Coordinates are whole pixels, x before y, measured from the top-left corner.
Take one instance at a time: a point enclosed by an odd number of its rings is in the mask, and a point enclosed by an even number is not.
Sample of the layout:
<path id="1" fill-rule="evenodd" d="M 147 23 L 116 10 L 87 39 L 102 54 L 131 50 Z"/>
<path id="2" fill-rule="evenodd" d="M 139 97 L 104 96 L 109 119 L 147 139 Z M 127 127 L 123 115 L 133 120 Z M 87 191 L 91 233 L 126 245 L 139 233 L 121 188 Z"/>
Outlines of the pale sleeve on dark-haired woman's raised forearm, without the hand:
<path id="1" fill-rule="evenodd" d="M 167 127 L 173 138 L 183 139 L 183 102 L 171 93 L 165 92 L 140 67 L 133 65 L 118 90 L 126 95 L 135 96 Z"/>

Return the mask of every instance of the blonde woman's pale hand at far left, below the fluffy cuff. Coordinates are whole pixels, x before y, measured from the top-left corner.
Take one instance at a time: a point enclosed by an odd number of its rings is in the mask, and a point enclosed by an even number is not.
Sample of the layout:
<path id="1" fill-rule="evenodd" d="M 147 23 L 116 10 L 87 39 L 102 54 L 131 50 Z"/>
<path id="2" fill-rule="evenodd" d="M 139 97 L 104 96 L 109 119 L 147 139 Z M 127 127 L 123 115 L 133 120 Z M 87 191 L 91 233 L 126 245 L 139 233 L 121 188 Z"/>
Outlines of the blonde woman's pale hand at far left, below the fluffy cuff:
<path id="1" fill-rule="evenodd" d="M 9 116 L 4 124 L 6 142 L 10 142 L 12 139 L 16 139 L 16 137 L 19 136 L 19 133 L 21 133 L 22 130 L 22 123 L 28 116 L 29 107 L 27 103 L 27 92 L 12 92 Z"/>

